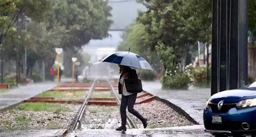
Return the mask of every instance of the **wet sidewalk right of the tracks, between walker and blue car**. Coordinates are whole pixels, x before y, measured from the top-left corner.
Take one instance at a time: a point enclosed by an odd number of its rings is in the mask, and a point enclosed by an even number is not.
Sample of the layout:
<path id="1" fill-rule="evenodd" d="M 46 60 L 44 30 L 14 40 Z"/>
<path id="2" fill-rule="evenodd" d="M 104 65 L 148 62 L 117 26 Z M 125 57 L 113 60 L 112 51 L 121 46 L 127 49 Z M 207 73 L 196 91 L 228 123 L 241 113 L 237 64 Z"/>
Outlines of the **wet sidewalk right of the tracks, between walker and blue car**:
<path id="1" fill-rule="evenodd" d="M 150 92 L 160 98 L 166 99 L 174 105 L 183 109 L 203 125 L 203 110 L 206 100 L 211 96 L 211 90 L 207 88 L 190 87 L 188 90 L 163 90 L 160 81 L 142 82 L 143 90 Z"/>

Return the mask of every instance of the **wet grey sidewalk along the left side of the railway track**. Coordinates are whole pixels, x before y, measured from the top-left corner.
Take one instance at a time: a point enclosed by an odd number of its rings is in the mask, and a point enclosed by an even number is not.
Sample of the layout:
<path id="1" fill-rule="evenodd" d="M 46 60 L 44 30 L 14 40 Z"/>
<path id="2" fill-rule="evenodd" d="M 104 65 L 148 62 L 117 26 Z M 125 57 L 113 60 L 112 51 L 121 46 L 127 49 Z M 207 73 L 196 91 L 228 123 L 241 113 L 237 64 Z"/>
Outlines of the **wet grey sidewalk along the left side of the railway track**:
<path id="1" fill-rule="evenodd" d="M 61 83 L 68 82 L 69 79 L 62 80 Z M 42 82 L 34 83 L 26 86 L 19 86 L 14 89 L 10 89 L 7 92 L 0 93 L 0 110 L 9 107 L 11 105 L 21 103 L 23 100 L 29 99 L 39 93 L 49 90 L 55 87 L 57 82 Z"/>

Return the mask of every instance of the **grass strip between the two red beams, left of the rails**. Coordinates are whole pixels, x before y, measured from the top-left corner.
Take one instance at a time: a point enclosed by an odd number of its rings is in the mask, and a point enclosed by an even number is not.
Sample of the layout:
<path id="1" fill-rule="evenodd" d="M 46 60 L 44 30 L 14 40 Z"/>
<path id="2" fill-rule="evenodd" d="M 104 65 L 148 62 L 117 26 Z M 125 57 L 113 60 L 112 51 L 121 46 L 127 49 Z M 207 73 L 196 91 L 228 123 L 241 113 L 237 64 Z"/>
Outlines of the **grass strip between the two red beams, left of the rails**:
<path id="1" fill-rule="evenodd" d="M 72 99 L 80 99 L 85 98 L 85 91 L 45 91 L 36 97 L 54 97 L 54 98 L 72 98 Z"/>

